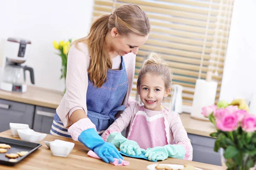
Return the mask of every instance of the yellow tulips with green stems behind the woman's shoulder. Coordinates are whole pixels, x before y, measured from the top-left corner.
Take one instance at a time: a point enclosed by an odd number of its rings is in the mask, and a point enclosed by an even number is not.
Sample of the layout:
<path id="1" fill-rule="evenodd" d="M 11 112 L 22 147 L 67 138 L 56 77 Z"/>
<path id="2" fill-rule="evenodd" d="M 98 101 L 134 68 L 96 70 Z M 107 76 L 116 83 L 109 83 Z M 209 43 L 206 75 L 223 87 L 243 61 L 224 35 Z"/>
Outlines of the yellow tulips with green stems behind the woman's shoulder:
<path id="1" fill-rule="evenodd" d="M 70 49 L 70 42 L 72 42 L 72 39 L 69 39 L 67 42 L 60 41 L 59 43 L 57 41 L 53 41 L 53 47 L 56 50 L 59 50 L 60 53 L 56 53 L 61 57 L 62 60 L 62 67 L 61 67 L 61 77 L 60 79 L 64 78 L 66 81 L 67 76 L 67 54 Z M 66 92 L 66 88 L 64 90 L 64 93 Z"/>

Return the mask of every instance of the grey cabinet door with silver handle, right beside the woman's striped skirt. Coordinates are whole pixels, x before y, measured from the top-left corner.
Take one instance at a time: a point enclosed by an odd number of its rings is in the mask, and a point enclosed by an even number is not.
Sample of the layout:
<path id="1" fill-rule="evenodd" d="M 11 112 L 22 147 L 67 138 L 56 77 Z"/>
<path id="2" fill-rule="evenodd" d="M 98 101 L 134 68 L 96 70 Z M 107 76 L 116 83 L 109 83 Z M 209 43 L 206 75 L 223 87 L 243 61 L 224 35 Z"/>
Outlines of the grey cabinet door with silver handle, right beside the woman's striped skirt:
<path id="1" fill-rule="evenodd" d="M 36 106 L 33 129 L 36 132 L 49 134 L 55 113 L 56 109 Z"/>

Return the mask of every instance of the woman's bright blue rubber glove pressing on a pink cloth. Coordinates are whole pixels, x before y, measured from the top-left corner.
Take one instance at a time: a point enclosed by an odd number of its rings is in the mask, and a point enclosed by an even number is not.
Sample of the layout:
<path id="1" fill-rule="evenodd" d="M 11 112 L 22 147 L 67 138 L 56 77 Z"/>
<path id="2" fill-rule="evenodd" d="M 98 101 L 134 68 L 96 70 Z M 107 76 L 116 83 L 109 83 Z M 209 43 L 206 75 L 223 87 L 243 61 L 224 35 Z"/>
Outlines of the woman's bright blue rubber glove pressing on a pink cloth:
<path id="1" fill-rule="evenodd" d="M 113 162 L 114 158 L 119 159 L 119 163 L 120 159 L 123 160 L 116 147 L 110 142 L 104 142 L 94 128 L 82 131 L 78 140 L 107 163 Z"/>

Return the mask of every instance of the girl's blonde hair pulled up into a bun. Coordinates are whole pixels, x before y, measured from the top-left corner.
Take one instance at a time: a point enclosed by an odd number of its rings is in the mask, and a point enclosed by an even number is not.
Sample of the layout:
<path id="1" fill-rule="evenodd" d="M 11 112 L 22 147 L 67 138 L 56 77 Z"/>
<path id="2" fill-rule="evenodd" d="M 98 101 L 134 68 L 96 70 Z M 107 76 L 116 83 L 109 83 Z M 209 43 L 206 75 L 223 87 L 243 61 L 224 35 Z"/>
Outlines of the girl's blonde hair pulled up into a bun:
<path id="1" fill-rule="evenodd" d="M 172 73 L 169 71 L 169 68 L 166 62 L 161 59 L 156 53 L 151 53 L 148 56 L 148 59 L 145 60 L 143 67 L 140 70 L 139 77 L 137 80 L 137 85 L 140 86 L 141 79 L 146 74 L 153 74 L 160 76 L 163 79 L 165 88 L 171 88 L 172 86 Z"/>

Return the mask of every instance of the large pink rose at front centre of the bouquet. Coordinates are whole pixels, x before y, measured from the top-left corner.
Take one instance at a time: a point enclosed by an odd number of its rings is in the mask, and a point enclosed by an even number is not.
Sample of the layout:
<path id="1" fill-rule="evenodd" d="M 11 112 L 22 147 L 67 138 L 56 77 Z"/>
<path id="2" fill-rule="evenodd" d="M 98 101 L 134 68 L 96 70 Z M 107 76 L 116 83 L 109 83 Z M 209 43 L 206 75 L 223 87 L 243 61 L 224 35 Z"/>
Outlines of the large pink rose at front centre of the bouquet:
<path id="1" fill-rule="evenodd" d="M 218 129 L 226 132 L 236 130 L 239 125 L 237 115 L 230 114 L 227 110 L 220 113 L 222 113 L 222 115 L 216 120 Z"/>

